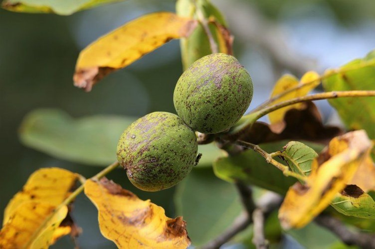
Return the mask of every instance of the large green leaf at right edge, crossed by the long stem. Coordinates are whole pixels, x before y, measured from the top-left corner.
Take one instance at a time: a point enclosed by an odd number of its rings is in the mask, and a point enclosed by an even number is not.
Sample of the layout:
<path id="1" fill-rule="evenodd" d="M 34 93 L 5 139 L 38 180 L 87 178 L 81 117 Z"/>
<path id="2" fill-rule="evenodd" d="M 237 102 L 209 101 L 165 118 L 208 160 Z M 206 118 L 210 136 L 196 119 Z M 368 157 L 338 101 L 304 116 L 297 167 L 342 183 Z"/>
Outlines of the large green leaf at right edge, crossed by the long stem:
<path id="1" fill-rule="evenodd" d="M 375 50 L 363 59 L 355 59 L 340 68 L 341 73 L 323 80 L 325 91 L 375 90 Z M 327 71 L 330 74 L 332 71 Z M 375 98 L 353 97 L 330 99 L 349 130 L 365 129 L 375 138 Z"/>

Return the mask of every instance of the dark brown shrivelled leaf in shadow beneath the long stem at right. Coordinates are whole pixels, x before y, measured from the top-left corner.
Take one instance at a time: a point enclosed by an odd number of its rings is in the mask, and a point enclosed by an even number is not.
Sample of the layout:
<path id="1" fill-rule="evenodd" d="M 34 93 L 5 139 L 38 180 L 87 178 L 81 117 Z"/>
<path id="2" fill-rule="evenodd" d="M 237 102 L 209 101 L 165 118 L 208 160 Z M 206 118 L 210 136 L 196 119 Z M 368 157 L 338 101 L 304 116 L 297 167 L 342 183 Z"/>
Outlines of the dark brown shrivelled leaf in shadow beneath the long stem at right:
<path id="1" fill-rule="evenodd" d="M 304 110 L 288 110 L 285 113 L 284 122 L 285 128 L 280 133 L 273 132 L 272 125 L 255 122 L 241 140 L 253 144 L 276 142 L 285 139 L 327 144 L 333 137 L 342 134 L 342 130 L 339 127 L 323 125 L 318 108 L 312 102 L 307 102 L 307 108 Z"/>

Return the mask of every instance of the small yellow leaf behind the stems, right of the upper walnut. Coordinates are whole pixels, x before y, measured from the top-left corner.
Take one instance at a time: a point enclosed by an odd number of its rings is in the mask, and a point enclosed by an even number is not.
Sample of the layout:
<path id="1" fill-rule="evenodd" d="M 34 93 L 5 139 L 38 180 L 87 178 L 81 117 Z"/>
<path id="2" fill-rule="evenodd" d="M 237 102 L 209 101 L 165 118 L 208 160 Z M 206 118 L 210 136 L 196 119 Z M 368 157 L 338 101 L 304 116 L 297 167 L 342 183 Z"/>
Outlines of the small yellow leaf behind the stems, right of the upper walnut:
<path id="1" fill-rule="evenodd" d="M 304 76 L 302 76 L 300 82 L 296 77 L 290 74 L 285 74 L 282 76 L 275 84 L 275 87 L 273 88 L 271 98 L 276 97 L 284 92 L 290 91 L 289 93 L 285 94 L 281 98 L 275 99 L 275 101 L 272 101 L 270 105 L 274 105 L 276 103 L 280 103 L 283 101 L 287 101 L 289 99 L 302 97 L 307 95 L 312 89 L 314 89 L 318 84 L 320 84 L 320 76 L 318 73 L 314 71 L 307 72 Z M 299 87 L 303 86 L 304 87 Z M 299 87 L 294 89 L 295 87 Z M 294 90 L 292 90 L 294 89 Z M 273 111 L 268 115 L 271 124 L 280 123 L 280 130 L 284 129 L 284 115 L 285 113 L 293 108 L 296 109 L 303 109 L 305 107 L 304 103 L 294 104 L 294 105 L 288 105 L 287 107 L 281 108 L 279 110 Z"/>

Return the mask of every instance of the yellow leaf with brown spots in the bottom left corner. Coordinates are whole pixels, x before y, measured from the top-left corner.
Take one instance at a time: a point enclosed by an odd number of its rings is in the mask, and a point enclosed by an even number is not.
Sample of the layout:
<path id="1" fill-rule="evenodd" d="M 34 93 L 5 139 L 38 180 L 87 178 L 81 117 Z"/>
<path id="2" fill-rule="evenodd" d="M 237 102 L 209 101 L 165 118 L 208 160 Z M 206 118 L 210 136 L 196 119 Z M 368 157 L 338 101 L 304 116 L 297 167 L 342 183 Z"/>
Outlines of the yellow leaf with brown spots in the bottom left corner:
<path id="1" fill-rule="evenodd" d="M 68 207 L 60 206 L 77 179 L 77 174 L 59 168 L 34 172 L 5 208 L 0 232 L 5 244 L 0 242 L 0 248 L 7 244 L 15 245 L 13 248 L 48 248 L 62 236 L 77 236 L 80 229 L 69 216 Z"/>

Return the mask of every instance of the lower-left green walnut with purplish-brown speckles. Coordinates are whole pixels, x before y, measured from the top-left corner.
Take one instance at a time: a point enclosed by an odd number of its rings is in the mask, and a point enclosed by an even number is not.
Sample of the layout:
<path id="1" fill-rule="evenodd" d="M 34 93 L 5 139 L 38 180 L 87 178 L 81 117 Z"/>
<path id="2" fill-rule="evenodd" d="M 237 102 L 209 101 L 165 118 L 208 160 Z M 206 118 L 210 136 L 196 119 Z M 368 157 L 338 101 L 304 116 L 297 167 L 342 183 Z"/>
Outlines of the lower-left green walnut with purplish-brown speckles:
<path id="1" fill-rule="evenodd" d="M 198 150 L 195 132 L 175 114 L 154 112 L 130 124 L 117 145 L 117 159 L 137 188 L 158 191 L 180 182 Z"/>

